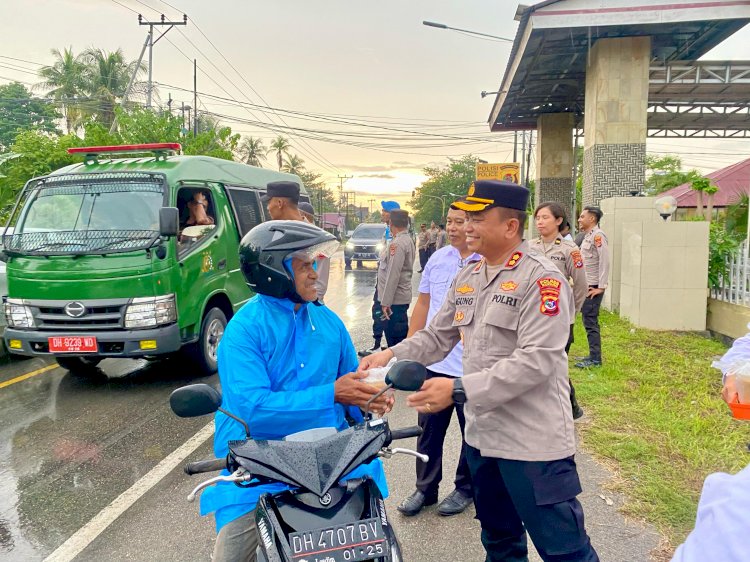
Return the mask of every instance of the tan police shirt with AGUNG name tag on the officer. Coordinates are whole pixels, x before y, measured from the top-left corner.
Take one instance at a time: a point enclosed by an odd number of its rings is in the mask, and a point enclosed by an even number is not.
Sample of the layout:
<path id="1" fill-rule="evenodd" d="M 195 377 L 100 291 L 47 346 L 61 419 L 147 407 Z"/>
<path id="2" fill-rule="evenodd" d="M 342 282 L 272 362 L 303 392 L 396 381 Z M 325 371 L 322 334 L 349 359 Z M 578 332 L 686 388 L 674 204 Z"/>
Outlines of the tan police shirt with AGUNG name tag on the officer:
<path id="1" fill-rule="evenodd" d="M 570 284 L 526 242 L 489 280 L 485 270 L 484 260 L 462 269 L 430 325 L 391 351 L 430 365 L 463 341 L 466 442 L 486 457 L 569 457 Z"/>

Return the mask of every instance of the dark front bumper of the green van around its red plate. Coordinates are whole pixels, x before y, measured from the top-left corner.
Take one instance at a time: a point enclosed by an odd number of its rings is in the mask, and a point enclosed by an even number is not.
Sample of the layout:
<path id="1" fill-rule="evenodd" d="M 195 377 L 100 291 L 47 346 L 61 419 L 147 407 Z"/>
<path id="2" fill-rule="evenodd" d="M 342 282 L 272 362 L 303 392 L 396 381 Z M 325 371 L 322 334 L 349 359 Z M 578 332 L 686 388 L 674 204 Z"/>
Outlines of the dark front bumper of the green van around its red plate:
<path id="1" fill-rule="evenodd" d="M 60 336 L 95 337 L 98 351 L 80 353 L 50 353 L 49 338 Z M 170 324 L 150 330 L 119 330 L 110 332 L 51 332 L 41 330 L 5 329 L 5 345 L 10 353 L 18 355 L 66 355 L 70 357 L 143 357 L 162 355 L 180 349 L 180 328 Z M 11 346 L 11 340 L 20 341 L 21 348 Z M 141 342 L 148 342 L 144 347 Z M 156 345 L 153 345 L 156 342 Z"/>

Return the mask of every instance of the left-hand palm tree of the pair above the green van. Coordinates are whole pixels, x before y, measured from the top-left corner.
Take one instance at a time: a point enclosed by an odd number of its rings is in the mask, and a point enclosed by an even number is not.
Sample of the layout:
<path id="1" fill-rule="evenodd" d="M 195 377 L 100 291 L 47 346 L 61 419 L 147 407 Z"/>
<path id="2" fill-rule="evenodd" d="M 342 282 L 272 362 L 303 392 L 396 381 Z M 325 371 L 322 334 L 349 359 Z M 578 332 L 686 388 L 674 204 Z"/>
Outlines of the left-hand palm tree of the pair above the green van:
<path id="1" fill-rule="evenodd" d="M 52 49 L 55 62 L 52 66 L 43 66 L 39 69 L 39 77 L 43 80 L 35 86 L 35 89 L 43 89 L 46 95 L 52 96 L 62 103 L 65 115 L 65 128 L 68 133 L 78 124 L 81 110 L 76 105 L 75 99 L 80 97 L 84 86 L 84 72 L 86 65 L 81 61 L 81 56 L 73 54 L 73 48 Z"/>

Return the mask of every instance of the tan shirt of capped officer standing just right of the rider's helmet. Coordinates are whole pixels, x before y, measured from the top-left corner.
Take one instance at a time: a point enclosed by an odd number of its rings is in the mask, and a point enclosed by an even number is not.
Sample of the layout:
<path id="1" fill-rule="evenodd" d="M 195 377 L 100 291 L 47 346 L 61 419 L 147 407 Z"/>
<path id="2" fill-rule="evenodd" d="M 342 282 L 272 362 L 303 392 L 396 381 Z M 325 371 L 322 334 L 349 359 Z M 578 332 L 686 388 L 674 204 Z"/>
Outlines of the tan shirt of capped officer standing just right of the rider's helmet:
<path id="1" fill-rule="evenodd" d="M 411 303 L 414 254 L 414 242 L 406 231 L 396 234 L 381 254 L 378 264 L 378 300 L 381 305 Z"/>

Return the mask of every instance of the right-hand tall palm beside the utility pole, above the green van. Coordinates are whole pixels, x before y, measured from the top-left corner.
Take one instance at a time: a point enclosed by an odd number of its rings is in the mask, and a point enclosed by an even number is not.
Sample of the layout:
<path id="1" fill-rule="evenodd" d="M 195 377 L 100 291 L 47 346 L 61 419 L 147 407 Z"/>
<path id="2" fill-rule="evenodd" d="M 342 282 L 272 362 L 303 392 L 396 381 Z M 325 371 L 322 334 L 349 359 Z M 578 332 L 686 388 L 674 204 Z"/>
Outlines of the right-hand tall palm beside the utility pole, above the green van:
<path id="1" fill-rule="evenodd" d="M 146 64 L 127 62 L 122 49 L 108 53 L 91 48 L 84 51 L 82 58 L 86 64 L 85 90 L 94 100 L 91 112 L 101 123 L 111 125 L 117 100 L 125 95 L 134 72 L 136 76 L 146 72 Z M 146 88 L 145 82 L 134 82 L 130 92 L 145 93 Z"/>

